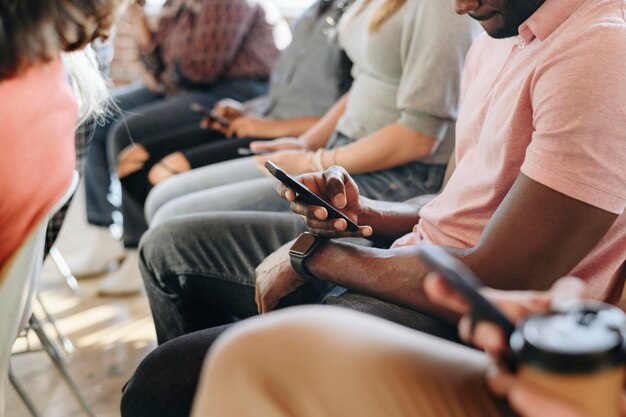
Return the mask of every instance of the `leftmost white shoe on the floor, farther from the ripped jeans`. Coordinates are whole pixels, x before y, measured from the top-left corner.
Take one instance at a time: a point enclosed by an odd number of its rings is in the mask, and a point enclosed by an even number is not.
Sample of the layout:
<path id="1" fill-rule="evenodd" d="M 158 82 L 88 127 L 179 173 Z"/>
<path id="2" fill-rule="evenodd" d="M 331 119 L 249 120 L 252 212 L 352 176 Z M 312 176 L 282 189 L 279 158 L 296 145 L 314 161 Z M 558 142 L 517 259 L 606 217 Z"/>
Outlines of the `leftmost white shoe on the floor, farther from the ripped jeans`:
<path id="1" fill-rule="evenodd" d="M 114 269 L 126 251 L 107 227 L 89 226 L 81 247 L 65 256 L 72 273 L 77 277 L 98 275 Z"/>

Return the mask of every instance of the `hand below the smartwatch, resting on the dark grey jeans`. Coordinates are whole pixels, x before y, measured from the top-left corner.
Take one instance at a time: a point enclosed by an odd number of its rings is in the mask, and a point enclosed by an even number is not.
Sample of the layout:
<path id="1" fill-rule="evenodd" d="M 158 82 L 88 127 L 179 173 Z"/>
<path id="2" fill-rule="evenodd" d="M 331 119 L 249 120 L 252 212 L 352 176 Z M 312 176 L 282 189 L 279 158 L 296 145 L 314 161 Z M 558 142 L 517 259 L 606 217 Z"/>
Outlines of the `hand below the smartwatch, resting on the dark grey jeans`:
<path id="1" fill-rule="evenodd" d="M 307 281 L 291 267 L 292 244 L 293 241 L 281 246 L 256 268 L 256 304 L 260 314 L 274 310 L 281 299 Z"/>

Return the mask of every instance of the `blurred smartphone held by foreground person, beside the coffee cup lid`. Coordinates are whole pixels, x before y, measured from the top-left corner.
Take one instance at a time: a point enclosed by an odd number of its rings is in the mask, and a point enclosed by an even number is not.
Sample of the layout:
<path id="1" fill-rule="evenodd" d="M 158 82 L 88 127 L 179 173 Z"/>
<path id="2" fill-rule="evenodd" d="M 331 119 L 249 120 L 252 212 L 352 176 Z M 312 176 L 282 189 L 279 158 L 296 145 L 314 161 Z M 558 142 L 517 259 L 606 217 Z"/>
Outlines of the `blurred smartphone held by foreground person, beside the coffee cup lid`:
<path id="1" fill-rule="evenodd" d="M 434 271 L 439 272 L 446 282 L 468 302 L 475 320 L 489 321 L 499 326 L 507 340 L 515 331 L 515 325 L 478 290 L 482 282 L 460 260 L 435 245 L 420 245 L 418 256 Z"/>

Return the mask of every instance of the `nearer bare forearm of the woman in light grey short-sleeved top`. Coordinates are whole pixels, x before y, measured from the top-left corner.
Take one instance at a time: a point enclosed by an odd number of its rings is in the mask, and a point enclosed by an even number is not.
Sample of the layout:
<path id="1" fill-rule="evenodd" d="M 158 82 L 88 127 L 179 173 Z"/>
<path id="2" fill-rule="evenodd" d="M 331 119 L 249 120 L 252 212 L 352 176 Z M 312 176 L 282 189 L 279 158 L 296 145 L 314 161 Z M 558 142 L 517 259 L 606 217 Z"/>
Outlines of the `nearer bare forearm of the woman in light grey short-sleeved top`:
<path id="1" fill-rule="evenodd" d="M 335 161 L 351 174 L 379 171 L 429 156 L 437 141 L 393 123 L 336 151 Z"/>

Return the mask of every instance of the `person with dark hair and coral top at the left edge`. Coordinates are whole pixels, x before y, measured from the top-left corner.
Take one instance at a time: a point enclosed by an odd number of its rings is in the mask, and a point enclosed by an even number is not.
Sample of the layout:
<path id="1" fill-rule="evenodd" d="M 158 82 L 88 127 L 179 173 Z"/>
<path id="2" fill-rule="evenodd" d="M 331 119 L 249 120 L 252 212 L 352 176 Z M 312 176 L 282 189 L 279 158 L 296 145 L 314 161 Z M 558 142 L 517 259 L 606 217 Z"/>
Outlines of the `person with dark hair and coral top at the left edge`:
<path id="1" fill-rule="evenodd" d="M 79 108 L 60 55 L 106 38 L 121 3 L 0 1 L 0 268 L 72 181 Z"/>

